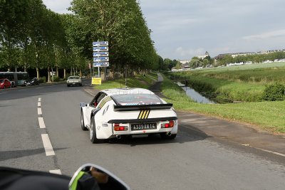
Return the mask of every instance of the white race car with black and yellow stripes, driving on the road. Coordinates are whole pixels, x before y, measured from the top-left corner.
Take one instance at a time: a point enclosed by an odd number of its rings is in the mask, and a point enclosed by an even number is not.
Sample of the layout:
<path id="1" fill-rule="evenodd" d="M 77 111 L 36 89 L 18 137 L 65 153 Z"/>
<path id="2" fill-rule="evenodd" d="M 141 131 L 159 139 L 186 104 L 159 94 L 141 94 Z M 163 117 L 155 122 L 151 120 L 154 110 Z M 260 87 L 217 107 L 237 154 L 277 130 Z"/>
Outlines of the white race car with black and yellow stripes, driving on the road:
<path id="1" fill-rule="evenodd" d="M 177 115 L 172 104 L 142 88 L 101 90 L 89 103 L 81 105 L 81 128 L 89 130 L 90 141 L 123 135 L 147 136 L 160 134 L 174 139 Z"/>

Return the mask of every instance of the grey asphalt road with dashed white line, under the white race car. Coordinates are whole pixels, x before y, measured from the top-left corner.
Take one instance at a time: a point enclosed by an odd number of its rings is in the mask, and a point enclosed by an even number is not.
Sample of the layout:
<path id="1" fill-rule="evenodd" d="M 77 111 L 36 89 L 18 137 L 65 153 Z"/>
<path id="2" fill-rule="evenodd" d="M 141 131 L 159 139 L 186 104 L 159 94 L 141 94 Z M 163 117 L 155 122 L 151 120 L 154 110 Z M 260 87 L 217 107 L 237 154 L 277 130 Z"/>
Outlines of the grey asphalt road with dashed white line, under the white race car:
<path id="1" fill-rule="evenodd" d="M 80 127 L 79 102 L 92 98 L 83 88 L 0 90 L 0 166 L 71 176 L 82 164 L 93 163 L 132 189 L 284 189 L 284 157 L 208 137 L 186 124 L 174 140 L 155 136 L 91 144 Z M 54 154 L 46 153 L 42 134 Z"/>

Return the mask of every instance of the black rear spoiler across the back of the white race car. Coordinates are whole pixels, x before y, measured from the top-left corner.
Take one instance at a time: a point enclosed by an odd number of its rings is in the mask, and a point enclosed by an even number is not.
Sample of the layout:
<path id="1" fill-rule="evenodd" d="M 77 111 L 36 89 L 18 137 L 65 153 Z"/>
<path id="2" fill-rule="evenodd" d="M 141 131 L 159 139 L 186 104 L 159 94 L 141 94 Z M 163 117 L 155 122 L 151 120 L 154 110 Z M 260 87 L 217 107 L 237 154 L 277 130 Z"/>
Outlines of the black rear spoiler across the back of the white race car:
<path id="1" fill-rule="evenodd" d="M 114 111 L 133 111 L 133 110 L 167 110 L 172 107 L 172 103 L 155 105 L 114 105 Z"/>

